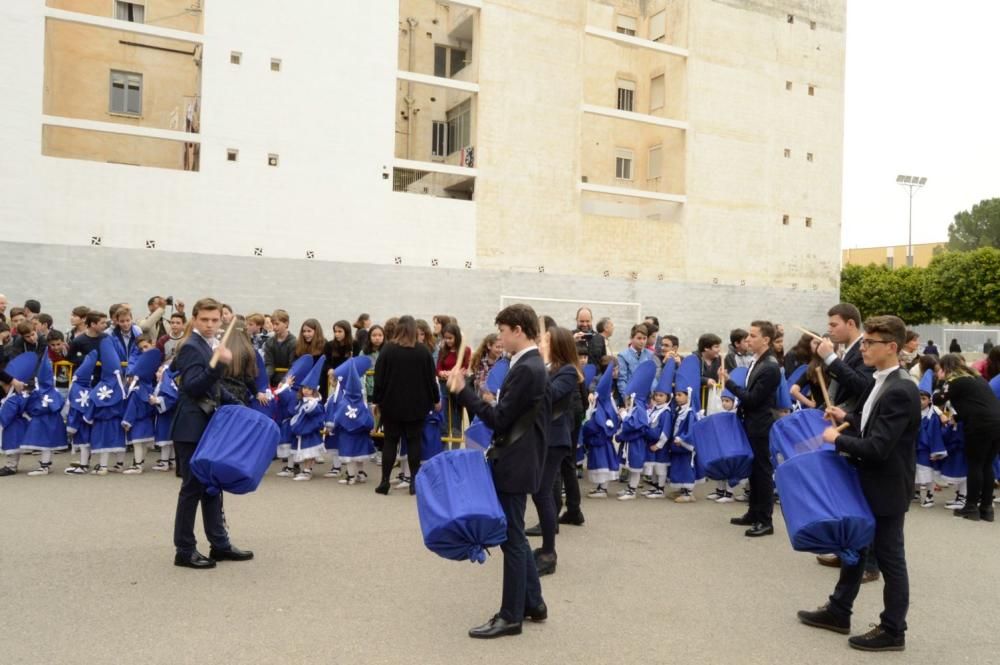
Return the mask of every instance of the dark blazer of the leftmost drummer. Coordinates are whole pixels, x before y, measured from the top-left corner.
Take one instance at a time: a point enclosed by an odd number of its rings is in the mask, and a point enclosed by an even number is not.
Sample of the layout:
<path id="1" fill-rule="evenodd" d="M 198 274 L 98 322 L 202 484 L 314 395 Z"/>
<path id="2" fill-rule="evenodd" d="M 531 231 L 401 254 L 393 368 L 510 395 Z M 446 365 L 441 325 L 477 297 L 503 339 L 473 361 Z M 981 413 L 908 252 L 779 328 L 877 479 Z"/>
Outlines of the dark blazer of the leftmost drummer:
<path id="1" fill-rule="evenodd" d="M 217 404 L 240 403 L 219 383 L 225 367 L 220 364 L 210 368 L 211 359 L 212 349 L 198 333 L 191 333 L 177 350 L 171 365 L 177 376 L 177 406 L 170 425 L 174 441 L 197 443 L 201 439 L 210 418 L 198 406 L 202 398 L 214 399 Z"/>

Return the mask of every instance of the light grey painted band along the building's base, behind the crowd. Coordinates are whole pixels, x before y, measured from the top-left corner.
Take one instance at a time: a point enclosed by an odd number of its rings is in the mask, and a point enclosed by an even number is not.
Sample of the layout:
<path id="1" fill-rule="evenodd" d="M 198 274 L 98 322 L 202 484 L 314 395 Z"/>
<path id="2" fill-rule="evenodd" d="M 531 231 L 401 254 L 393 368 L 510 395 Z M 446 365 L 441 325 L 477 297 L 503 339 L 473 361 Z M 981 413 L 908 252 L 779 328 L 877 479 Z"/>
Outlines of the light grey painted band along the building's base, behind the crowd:
<path id="1" fill-rule="evenodd" d="M 601 316 L 616 321 L 615 349 L 627 344 L 631 323 L 647 314 L 658 316 L 664 332 L 691 348 L 703 332 L 725 340 L 731 328 L 745 328 L 755 318 L 784 323 L 794 341 L 792 325 L 825 330 L 826 310 L 838 297 L 824 291 L 2 242 L 0 266 L 0 293 L 8 297 L 8 308 L 35 298 L 59 329 L 67 327 L 76 305 L 106 310 L 113 302 L 128 302 L 142 313 L 149 296 L 159 294 L 175 295 L 189 307 L 212 296 L 239 313 L 283 307 L 294 329 L 314 317 L 327 335 L 335 320 L 353 322 L 362 311 L 375 321 L 404 313 L 428 321 L 434 314 L 451 314 L 475 343 L 493 329 L 501 302 L 518 296 L 567 327 L 580 304 L 609 303 L 592 309 L 595 322 Z"/>

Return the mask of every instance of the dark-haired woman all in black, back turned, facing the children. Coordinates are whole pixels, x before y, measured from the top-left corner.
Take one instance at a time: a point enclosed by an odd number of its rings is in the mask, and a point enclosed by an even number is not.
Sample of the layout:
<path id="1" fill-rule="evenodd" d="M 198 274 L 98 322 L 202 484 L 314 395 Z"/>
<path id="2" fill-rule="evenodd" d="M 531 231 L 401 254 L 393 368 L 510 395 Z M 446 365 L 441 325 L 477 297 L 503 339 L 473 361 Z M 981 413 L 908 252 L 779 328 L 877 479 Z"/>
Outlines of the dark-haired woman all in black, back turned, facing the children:
<path id="1" fill-rule="evenodd" d="M 389 493 L 389 476 L 396 463 L 396 449 L 405 434 L 409 454 L 410 494 L 415 493 L 420 471 L 420 444 L 424 420 L 433 408 L 441 410 L 434 359 L 427 347 L 417 343 L 417 323 L 412 316 L 400 317 L 396 335 L 386 344 L 375 362 L 372 402 L 382 416 L 385 442 L 382 445 L 382 482 L 375 488 Z"/>

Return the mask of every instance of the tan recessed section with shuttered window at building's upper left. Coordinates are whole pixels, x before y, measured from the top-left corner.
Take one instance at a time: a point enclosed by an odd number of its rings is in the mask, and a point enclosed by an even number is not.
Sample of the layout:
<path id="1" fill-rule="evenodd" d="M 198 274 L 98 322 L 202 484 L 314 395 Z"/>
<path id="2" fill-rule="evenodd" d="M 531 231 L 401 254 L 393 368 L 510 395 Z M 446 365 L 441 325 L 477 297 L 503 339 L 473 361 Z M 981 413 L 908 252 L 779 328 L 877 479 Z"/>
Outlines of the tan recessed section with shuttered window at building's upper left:
<path id="1" fill-rule="evenodd" d="M 46 4 L 59 13 L 45 20 L 42 113 L 47 121 L 42 126 L 42 153 L 197 171 L 198 144 L 166 135 L 199 131 L 201 45 L 137 33 L 127 26 L 200 33 L 200 3 L 47 0 Z M 79 22 L 91 16 L 104 21 Z M 140 131 L 117 133 L 125 131 L 120 128 Z"/>

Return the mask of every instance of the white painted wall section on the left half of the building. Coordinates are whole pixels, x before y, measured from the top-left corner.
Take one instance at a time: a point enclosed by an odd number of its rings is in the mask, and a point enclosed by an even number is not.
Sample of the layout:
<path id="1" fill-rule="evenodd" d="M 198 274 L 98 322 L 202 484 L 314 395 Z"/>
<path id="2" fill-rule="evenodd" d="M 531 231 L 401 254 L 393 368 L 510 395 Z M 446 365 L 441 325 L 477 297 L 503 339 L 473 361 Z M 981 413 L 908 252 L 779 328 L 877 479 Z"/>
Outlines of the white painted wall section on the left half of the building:
<path id="1" fill-rule="evenodd" d="M 475 203 L 392 192 L 398 3 L 205 3 L 201 171 L 41 154 L 44 0 L 0 3 L 12 242 L 462 267 Z M 240 66 L 229 63 L 241 51 Z M 282 71 L 270 70 L 281 58 Z M 226 161 L 226 149 L 239 161 Z M 277 168 L 267 154 L 280 155 Z M 383 167 L 390 175 L 383 179 Z M 400 222 L 405 223 L 400 223 Z"/>

